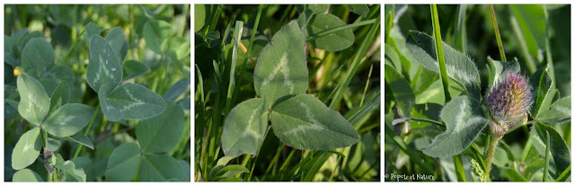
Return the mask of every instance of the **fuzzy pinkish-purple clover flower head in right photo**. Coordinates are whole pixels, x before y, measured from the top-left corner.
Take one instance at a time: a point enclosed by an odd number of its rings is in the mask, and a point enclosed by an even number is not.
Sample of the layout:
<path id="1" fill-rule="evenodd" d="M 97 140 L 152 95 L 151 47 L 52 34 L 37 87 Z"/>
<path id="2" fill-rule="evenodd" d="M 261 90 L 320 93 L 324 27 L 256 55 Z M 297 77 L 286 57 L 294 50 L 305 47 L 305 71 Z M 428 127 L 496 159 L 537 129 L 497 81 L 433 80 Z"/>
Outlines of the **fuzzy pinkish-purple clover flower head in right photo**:
<path id="1" fill-rule="evenodd" d="M 526 76 L 510 71 L 502 74 L 487 97 L 491 131 L 502 137 L 510 128 L 523 124 L 531 104 L 531 85 Z"/>

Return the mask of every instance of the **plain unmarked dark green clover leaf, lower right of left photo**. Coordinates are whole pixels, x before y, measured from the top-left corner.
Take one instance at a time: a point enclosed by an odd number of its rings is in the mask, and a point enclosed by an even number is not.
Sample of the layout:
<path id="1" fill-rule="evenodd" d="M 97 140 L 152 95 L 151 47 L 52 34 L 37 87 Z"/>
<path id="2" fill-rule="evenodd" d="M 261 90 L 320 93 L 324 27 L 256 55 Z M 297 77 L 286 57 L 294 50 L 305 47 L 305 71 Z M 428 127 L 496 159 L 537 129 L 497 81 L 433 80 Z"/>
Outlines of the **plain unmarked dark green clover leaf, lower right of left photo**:
<path id="1" fill-rule="evenodd" d="M 137 173 L 138 180 L 145 182 L 189 181 L 190 174 L 184 173 L 181 164 L 164 155 L 180 142 L 184 122 L 183 109 L 174 102 L 168 102 L 160 115 L 140 121 L 136 127 L 137 143 L 125 143 L 114 149 L 106 179 L 128 182 Z"/>

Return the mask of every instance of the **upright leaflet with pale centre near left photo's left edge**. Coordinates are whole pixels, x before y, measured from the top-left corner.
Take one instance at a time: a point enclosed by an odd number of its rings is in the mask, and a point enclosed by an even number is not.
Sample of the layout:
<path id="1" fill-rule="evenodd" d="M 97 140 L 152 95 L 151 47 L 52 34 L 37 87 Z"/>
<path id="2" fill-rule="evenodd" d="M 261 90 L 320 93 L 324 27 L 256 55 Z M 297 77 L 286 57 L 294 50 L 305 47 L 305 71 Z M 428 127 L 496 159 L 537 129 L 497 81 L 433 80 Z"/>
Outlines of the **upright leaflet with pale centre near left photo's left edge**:
<path id="1" fill-rule="evenodd" d="M 42 84 L 30 75 L 18 75 L 17 85 L 20 93 L 18 112 L 22 118 L 34 126 L 39 126 L 50 109 L 48 94 Z"/>

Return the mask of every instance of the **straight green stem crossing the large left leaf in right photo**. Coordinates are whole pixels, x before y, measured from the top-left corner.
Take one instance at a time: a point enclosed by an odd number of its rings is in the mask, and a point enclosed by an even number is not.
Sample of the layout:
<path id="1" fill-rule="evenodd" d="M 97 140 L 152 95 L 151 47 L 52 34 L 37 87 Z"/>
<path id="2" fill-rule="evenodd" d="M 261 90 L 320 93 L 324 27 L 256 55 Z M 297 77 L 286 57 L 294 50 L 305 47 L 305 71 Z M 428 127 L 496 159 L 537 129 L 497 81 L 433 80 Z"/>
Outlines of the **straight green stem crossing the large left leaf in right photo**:
<path id="1" fill-rule="evenodd" d="M 441 41 L 441 30 L 439 28 L 438 4 L 431 4 L 431 21 L 433 22 L 433 38 L 435 39 L 435 53 L 438 57 L 439 71 L 441 72 L 441 83 L 443 84 L 443 93 L 446 96 L 446 102 L 451 100 L 449 95 L 449 79 L 447 79 L 446 59 L 443 56 L 443 42 Z"/>

